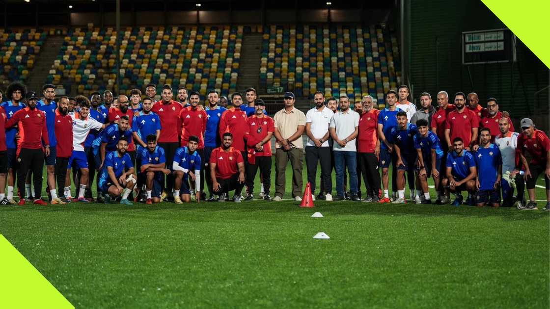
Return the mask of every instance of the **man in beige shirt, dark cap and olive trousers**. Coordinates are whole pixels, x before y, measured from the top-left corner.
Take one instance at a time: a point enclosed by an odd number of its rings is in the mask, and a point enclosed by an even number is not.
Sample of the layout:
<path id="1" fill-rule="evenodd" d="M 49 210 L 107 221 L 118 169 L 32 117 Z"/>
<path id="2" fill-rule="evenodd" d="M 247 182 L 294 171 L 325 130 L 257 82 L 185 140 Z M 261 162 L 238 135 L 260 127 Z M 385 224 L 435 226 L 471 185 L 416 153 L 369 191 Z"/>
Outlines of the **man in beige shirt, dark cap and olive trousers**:
<path id="1" fill-rule="evenodd" d="M 302 193 L 302 157 L 304 144 L 302 134 L 306 126 L 306 115 L 294 107 L 294 93 L 284 93 L 284 108 L 278 111 L 275 121 L 275 198 L 281 201 L 285 190 L 285 170 L 290 159 L 292 165 L 292 195 L 301 201 Z"/>

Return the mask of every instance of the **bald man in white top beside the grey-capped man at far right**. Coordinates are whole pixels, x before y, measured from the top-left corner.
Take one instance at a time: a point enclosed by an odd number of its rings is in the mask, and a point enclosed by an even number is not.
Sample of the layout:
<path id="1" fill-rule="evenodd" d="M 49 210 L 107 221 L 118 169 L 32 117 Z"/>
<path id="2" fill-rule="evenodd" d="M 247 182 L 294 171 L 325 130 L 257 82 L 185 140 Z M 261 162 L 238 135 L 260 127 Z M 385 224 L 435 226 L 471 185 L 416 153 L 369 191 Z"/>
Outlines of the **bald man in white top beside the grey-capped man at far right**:
<path id="1" fill-rule="evenodd" d="M 498 128 L 500 130 L 500 134 L 494 139 L 494 144 L 498 146 L 500 154 L 502 155 L 502 174 L 505 175 L 506 172 L 511 173 L 516 167 L 515 151 L 516 146 L 518 145 L 519 133 L 510 131 L 510 123 L 508 118 L 500 118 L 500 120 L 498 120 Z M 524 183 L 523 176 L 519 173 L 516 175 L 515 185 L 518 187 L 518 200 L 522 201 Z M 500 180 L 500 187 L 502 187 L 502 206 L 511 207 L 514 203 L 514 188 L 510 186 L 504 177 Z"/>

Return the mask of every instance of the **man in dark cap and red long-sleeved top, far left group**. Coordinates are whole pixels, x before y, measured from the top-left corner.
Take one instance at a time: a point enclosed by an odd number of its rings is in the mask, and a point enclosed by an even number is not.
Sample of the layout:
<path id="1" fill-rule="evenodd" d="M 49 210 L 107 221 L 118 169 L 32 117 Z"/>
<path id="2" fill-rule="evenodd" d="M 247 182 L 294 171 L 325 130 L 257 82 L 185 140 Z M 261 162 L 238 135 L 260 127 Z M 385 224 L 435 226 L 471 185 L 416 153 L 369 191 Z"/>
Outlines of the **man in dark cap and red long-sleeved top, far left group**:
<path id="1" fill-rule="evenodd" d="M 19 173 L 17 186 L 19 188 L 19 205 L 25 205 L 25 178 L 32 169 L 33 183 L 36 197 L 34 203 L 46 205 L 40 198 L 42 191 L 42 169 L 44 167 L 44 156 L 50 155 L 50 140 L 46 128 L 46 114 L 36 108 L 38 96 L 35 92 L 26 94 L 27 107 L 21 109 L 5 123 L 5 128 L 19 125 L 19 141 L 17 148 L 17 161 L 19 162 Z M 42 151 L 42 141 L 45 151 Z"/>

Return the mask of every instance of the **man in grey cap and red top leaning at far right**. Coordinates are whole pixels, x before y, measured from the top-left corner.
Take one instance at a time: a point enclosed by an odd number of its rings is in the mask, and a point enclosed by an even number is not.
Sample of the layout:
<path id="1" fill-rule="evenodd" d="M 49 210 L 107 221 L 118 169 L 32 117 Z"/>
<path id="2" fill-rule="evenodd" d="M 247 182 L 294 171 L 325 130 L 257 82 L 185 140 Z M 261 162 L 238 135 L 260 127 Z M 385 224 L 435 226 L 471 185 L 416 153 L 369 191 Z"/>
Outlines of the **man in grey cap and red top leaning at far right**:
<path id="1" fill-rule="evenodd" d="M 535 184 L 538 176 L 544 173 L 544 186 L 546 189 L 546 206 L 544 210 L 548 211 L 550 205 L 550 156 L 548 155 L 550 142 L 543 131 L 535 129 L 535 124 L 530 118 L 521 119 L 520 127 L 522 133 L 518 137 L 518 147 L 516 147 L 516 169 L 512 174 L 519 173 L 521 164 L 523 164 L 525 183 L 527 192 L 529 192 L 529 203 L 522 209 L 538 209 L 535 201 Z M 525 157 L 527 152 L 531 156 L 530 162 Z"/>

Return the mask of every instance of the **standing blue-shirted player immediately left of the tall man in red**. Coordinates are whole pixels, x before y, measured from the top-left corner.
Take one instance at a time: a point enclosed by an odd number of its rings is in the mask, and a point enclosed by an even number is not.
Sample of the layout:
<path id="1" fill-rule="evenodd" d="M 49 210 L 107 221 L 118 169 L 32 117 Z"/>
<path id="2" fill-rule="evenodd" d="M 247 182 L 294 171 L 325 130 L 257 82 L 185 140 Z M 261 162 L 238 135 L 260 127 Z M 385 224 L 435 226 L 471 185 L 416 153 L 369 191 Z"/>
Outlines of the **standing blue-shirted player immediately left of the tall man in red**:
<path id="1" fill-rule="evenodd" d="M 147 147 L 144 139 L 149 135 L 155 135 L 156 139 L 158 139 L 158 136 L 161 134 L 161 120 L 158 118 L 157 114 L 151 112 L 151 108 L 153 108 L 153 101 L 151 98 L 144 98 L 142 107 L 143 110 L 137 115 L 134 114 L 134 118 L 132 119 L 132 134 L 136 145 L 138 145 L 136 151 L 137 170 L 141 170 L 141 153 Z M 145 178 L 144 174 L 140 173 L 138 174 L 138 189 L 143 190 L 143 185 L 145 185 Z"/>

